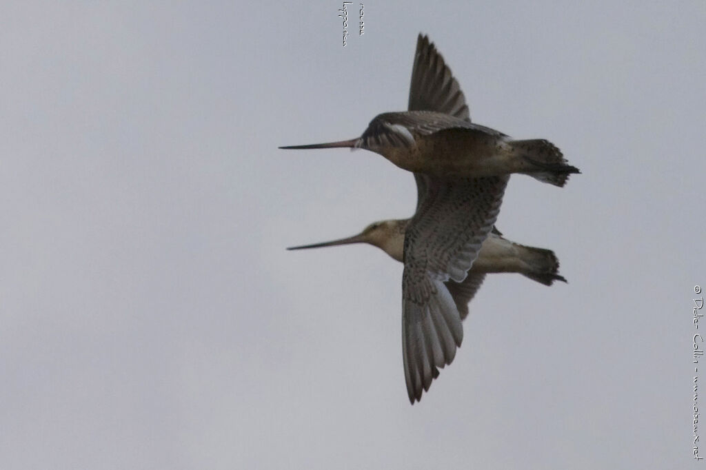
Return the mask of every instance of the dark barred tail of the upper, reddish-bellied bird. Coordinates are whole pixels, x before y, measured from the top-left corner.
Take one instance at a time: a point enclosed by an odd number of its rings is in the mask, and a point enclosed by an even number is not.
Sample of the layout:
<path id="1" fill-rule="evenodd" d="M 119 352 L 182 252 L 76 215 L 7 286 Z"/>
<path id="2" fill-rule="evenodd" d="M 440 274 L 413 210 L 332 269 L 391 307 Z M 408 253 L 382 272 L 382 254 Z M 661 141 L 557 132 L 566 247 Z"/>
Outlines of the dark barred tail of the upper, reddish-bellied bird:
<path id="1" fill-rule="evenodd" d="M 561 150 L 549 140 L 510 140 L 510 145 L 518 152 L 528 169 L 522 173 L 532 176 L 542 183 L 564 186 L 572 173 L 580 173 L 578 168 L 567 164 Z"/>

